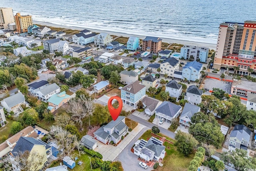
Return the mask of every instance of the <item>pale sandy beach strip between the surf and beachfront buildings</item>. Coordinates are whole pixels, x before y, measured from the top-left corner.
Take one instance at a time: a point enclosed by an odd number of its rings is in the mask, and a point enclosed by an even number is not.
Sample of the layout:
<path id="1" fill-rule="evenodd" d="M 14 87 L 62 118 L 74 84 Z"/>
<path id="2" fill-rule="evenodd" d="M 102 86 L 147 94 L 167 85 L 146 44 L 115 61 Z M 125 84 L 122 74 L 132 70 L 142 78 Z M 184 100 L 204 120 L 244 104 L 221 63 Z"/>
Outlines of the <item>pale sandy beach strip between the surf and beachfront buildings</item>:
<path id="1" fill-rule="evenodd" d="M 73 30 L 86 29 L 86 28 L 82 28 L 82 27 L 78 27 L 78 26 L 63 26 L 63 25 L 54 24 L 54 23 L 50 23 L 50 22 L 33 21 L 33 23 L 40 24 L 42 26 L 50 26 L 50 27 L 64 28 L 64 29 L 73 29 Z M 100 29 L 90 29 L 90 30 L 93 32 L 98 32 L 98 33 L 104 31 L 104 30 L 100 30 Z M 122 32 L 116 32 L 116 31 L 104 31 L 104 32 L 109 33 L 110 35 L 117 35 L 117 36 L 123 36 L 123 37 L 136 36 L 136 37 L 139 37 L 140 39 L 145 38 L 145 36 L 131 34 L 131 33 L 122 33 Z M 208 47 L 210 49 L 216 50 L 216 44 L 214 44 L 214 43 L 204 43 L 204 42 L 187 41 L 187 40 L 180 40 L 180 39 L 171 39 L 171 38 L 162 38 L 162 41 L 165 43 L 178 43 L 178 44 L 182 44 L 182 45 L 202 46 L 202 47 Z"/>

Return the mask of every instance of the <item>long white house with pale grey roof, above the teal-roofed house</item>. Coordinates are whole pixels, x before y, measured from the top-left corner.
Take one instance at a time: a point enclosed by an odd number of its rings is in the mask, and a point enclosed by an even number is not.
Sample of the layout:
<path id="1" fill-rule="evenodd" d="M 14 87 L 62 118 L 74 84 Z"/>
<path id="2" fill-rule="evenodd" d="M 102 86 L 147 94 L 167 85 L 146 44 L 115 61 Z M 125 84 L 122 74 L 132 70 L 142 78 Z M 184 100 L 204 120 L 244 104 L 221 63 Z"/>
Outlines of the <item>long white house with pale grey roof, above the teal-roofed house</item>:
<path id="1" fill-rule="evenodd" d="M 43 102 L 47 102 L 47 100 L 53 94 L 58 94 L 59 92 L 60 92 L 60 87 L 56 83 L 53 83 L 42 88 L 41 90 L 38 90 L 38 92 L 36 92 L 36 97 Z"/>

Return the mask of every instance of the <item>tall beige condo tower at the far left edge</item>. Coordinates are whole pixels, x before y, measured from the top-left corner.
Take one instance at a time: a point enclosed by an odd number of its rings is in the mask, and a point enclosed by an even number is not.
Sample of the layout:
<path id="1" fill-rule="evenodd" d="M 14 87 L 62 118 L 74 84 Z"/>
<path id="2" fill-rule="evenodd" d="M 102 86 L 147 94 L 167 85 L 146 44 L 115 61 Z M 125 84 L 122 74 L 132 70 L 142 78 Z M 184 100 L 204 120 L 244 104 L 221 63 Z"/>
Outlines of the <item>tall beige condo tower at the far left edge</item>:
<path id="1" fill-rule="evenodd" d="M 12 8 L 0 7 L 0 29 L 7 29 L 8 24 L 14 23 Z"/>

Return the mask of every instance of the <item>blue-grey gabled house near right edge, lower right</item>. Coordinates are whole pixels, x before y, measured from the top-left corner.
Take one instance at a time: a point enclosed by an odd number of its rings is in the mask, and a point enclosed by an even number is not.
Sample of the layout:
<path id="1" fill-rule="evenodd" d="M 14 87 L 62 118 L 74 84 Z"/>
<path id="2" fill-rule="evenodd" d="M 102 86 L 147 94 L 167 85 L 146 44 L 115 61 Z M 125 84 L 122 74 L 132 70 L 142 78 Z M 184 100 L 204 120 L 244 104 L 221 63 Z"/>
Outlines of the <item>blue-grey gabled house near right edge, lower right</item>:
<path id="1" fill-rule="evenodd" d="M 240 141 L 244 139 L 246 142 L 250 142 L 250 135 L 250 129 L 244 125 L 236 125 L 234 126 L 234 130 L 230 132 L 230 137 L 236 137 Z"/>

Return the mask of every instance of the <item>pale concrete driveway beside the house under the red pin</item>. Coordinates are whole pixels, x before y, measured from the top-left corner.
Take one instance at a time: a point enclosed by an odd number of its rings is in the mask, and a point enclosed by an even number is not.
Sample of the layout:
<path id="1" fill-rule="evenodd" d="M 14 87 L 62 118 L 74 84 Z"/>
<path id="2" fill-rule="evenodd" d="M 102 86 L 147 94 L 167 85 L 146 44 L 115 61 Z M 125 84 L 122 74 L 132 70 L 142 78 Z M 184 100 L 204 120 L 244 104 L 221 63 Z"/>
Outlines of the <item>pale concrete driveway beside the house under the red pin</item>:
<path id="1" fill-rule="evenodd" d="M 97 151 L 102 154 L 102 160 L 110 160 L 114 161 L 114 159 L 122 152 L 122 150 L 134 139 L 134 137 L 141 132 L 141 130 L 145 128 L 144 125 L 138 124 L 132 132 L 129 132 L 128 136 L 122 140 L 117 146 L 114 145 L 106 145 L 102 142 L 98 141 L 98 147 L 94 149 L 94 151 Z M 133 143 L 134 144 L 134 143 Z M 132 144 L 132 145 L 133 145 Z"/>

